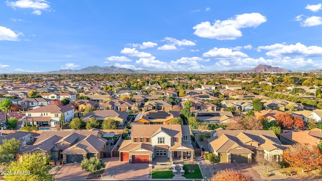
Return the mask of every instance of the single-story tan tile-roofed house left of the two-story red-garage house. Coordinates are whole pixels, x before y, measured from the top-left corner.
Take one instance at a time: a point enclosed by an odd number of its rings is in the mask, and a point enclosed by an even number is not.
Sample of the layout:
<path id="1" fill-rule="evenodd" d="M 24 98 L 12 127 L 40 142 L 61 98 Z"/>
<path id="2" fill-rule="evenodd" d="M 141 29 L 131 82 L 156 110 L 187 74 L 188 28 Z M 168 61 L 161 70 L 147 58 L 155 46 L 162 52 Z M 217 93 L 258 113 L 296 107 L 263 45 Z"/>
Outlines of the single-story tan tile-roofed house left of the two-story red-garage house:
<path id="1" fill-rule="evenodd" d="M 107 140 L 102 136 L 101 131 L 44 131 L 33 145 L 23 146 L 19 155 L 41 153 L 65 163 L 81 162 L 90 157 L 103 158 Z"/>

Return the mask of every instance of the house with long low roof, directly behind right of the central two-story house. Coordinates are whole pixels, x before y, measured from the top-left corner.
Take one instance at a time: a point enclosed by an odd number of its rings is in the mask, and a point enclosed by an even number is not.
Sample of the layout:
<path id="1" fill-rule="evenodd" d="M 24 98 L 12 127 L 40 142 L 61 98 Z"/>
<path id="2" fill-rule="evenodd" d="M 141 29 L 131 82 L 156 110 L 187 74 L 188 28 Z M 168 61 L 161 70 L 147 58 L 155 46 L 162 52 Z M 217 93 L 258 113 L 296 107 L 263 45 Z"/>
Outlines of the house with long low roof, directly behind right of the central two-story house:
<path id="1" fill-rule="evenodd" d="M 231 123 L 233 115 L 230 111 L 195 111 L 195 117 L 203 123 Z"/>

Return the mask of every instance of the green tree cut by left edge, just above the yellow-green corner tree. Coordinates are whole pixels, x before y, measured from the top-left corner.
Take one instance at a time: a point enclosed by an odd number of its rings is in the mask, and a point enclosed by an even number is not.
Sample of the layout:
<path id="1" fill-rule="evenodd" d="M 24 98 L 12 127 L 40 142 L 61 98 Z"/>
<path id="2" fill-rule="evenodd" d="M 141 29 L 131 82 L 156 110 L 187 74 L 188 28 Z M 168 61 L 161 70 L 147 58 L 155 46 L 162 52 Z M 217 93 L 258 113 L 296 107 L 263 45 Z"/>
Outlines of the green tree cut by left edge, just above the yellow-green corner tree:
<path id="1" fill-rule="evenodd" d="M 0 163 L 9 164 L 14 160 L 14 156 L 20 150 L 21 142 L 12 139 L 3 140 L 3 144 L 0 145 Z"/>

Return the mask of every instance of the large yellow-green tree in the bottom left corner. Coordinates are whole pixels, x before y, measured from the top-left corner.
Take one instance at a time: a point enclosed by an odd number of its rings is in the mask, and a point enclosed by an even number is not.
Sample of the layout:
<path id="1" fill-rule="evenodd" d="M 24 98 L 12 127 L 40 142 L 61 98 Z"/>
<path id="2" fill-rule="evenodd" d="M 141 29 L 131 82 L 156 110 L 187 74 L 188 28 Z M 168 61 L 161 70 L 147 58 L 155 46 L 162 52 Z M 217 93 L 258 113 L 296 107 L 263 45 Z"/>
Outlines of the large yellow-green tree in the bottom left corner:
<path id="1" fill-rule="evenodd" d="M 5 174 L 4 178 L 8 181 L 54 181 L 54 175 L 49 173 L 51 166 L 48 164 L 49 156 L 42 154 L 24 154 L 23 161 L 13 161 L 7 171 L 12 174 Z M 26 171 L 25 174 L 14 174 L 18 170 Z"/>

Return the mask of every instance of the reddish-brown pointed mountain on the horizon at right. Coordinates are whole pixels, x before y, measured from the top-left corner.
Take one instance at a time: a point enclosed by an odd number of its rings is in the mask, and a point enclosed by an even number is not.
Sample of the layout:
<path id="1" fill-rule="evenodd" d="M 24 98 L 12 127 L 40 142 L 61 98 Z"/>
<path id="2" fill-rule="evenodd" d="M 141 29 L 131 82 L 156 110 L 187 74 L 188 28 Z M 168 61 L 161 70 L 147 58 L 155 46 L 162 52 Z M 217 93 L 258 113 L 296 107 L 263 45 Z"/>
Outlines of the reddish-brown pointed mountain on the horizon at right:
<path id="1" fill-rule="evenodd" d="M 257 67 L 250 70 L 229 70 L 229 71 L 220 71 L 219 73 L 281 73 L 281 72 L 291 72 L 280 67 L 273 67 L 271 65 L 259 64 Z"/>

